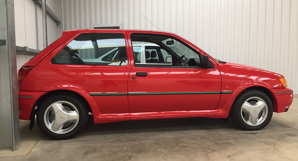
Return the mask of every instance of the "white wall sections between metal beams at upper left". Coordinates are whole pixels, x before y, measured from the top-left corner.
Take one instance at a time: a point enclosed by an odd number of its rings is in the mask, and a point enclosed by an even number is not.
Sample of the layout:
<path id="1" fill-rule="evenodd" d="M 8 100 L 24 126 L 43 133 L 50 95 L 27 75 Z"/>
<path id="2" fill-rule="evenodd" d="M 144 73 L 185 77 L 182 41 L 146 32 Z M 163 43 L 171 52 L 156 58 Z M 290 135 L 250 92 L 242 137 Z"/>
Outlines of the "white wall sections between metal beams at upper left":
<path id="1" fill-rule="evenodd" d="M 43 21 L 41 9 L 32 0 L 15 0 L 16 45 L 43 50 Z M 47 5 L 56 13 L 56 0 L 47 0 Z M 47 16 L 47 42 L 51 44 L 57 38 L 57 25 Z M 16 55 L 19 70 L 32 55 Z"/>

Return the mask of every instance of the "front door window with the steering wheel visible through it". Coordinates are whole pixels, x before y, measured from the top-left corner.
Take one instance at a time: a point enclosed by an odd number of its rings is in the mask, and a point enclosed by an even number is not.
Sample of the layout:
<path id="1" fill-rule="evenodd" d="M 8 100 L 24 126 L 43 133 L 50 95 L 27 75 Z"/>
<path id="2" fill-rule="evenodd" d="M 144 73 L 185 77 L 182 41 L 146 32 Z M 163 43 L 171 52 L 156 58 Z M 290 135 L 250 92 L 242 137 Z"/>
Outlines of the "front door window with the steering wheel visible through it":
<path id="1" fill-rule="evenodd" d="M 131 34 L 131 41 L 143 43 L 143 65 L 201 67 L 200 53 L 183 41 L 161 34 Z"/>

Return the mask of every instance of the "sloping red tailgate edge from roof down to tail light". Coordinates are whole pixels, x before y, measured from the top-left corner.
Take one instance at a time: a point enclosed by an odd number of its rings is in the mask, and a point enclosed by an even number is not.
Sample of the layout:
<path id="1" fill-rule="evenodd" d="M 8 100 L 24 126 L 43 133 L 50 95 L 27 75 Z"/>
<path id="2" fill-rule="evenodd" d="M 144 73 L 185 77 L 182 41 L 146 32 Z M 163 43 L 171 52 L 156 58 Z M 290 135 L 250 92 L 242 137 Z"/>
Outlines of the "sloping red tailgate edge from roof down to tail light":
<path id="1" fill-rule="evenodd" d="M 43 58 L 45 58 L 49 53 L 51 53 L 56 47 L 58 47 L 62 42 L 66 39 L 70 38 L 73 34 L 75 34 L 78 30 L 70 30 L 70 31 L 63 31 L 62 36 L 58 38 L 55 42 L 51 45 L 40 51 L 36 56 L 30 59 L 27 63 L 23 66 L 35 66 L 37 65 Z"/>

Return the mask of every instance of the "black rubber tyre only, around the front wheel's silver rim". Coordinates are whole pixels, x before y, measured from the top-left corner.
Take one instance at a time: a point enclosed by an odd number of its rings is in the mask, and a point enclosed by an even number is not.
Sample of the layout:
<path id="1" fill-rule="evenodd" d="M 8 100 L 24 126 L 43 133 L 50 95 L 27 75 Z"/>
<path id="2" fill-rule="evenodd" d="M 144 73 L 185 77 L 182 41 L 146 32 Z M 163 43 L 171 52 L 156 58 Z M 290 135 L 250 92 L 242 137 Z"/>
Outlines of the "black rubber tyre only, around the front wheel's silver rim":
<path id="1" fill-rule="evenodd" d="M 268 115 L 267 115 L 266 119 L 264 120 L 263 123 L 261 123 L 260 125 L 257 125 L 257 126 L 251 126 L 251 125 L 245 123 L 241 116 L 242 104 L 244 103 L 244 101 L 246 101 L 250 97 L 254 97 L 254 96 L 262 98 L 268 106 Z M 272 118 L 272 114 L 273 114 L 272 102 L 271 102 L 270 98 L 264 92 L 261 92 L 258 90 L 247 90 L 245 92 L 242 92 L 235 99 L 235 102 L 234 102 L 232 110 L 231 110 L 231 119 L 238 127 L 242 128 L 243 130 L 254 131 L 254 130 L 260 130 L 260 129 L 263 129 L 264 127 L 266 127 Z"/>

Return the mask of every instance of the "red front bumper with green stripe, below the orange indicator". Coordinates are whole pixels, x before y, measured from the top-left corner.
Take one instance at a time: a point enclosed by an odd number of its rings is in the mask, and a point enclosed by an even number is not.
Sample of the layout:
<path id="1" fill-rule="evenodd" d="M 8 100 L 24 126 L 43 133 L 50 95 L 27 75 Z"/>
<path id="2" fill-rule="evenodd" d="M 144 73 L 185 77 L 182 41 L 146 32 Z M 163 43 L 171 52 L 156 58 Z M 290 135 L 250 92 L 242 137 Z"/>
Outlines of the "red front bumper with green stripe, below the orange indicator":
<path id="1" fill-rule="evenodd" d="M 270 89 L 273 94 L 273 112 L 287 112 L 293 101 L 293 90 L 289 88 Z"/>

